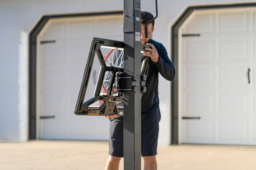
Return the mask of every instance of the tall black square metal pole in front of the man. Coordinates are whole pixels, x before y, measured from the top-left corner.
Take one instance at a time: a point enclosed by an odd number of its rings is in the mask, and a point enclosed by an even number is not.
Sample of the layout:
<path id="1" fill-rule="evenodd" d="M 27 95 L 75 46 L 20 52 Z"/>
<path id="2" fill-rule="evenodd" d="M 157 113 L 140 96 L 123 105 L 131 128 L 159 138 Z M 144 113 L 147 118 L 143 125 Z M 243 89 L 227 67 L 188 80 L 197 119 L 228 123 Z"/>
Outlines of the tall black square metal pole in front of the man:
<path id="1" fill-rule="evenodd" d="M 124 0 L 124 77 L 140 75 L 140 0 Z M 131 83 L 132 82 L 132 83 Z M 126 87 L 140 87 L 140 79 Z M 124 170 L 141 169 L 141 92 L 124 93 Z"/>

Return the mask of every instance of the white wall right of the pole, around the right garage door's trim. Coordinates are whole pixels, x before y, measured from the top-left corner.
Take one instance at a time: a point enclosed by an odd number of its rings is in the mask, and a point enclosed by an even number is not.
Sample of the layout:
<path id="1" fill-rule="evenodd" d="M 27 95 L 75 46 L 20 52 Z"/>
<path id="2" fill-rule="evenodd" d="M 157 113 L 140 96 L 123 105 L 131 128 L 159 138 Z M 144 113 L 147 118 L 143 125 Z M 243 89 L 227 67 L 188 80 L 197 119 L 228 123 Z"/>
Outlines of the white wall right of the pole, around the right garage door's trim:
<path id="1" fill-rule="evenodd" d="M 141 10 L 150 11 L 155 14 L 155 7 L 145 4 L 148 0 L 141 0 Z M 154 0 L 152 0 L 154 2 Z M 221 5 L 234 3 L 255 3 L 249 0 L 158 0 L 158 17 L 155 20 L 153 39 L 163 43 L 171 58 L 171 26 L 189 6 Z M 177 70 L 176 70 L 177 71 Z M 158 142 L 160 145 L 171 144 L 171 114 L 170 95 L 171 82 L 167 82 L 163 77 L 159 77 L 159 97 L 160 97 L 160 133 Z"/>

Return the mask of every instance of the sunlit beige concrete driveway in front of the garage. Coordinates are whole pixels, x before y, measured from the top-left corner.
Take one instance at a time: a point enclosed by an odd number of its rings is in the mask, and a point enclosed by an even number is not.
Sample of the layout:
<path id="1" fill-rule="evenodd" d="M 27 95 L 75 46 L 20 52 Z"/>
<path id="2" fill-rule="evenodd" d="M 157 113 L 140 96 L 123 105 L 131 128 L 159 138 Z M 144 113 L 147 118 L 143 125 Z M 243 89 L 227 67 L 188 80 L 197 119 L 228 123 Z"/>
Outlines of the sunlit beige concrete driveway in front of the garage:
<path id="1" fill-rule="evenodd" d="M 0 170 L 104 170 L 107 158 L 108 142 L 0 142 Z M 256 147 L 158 147 L 157 164 L 158 170 L 256 170 Z"/>

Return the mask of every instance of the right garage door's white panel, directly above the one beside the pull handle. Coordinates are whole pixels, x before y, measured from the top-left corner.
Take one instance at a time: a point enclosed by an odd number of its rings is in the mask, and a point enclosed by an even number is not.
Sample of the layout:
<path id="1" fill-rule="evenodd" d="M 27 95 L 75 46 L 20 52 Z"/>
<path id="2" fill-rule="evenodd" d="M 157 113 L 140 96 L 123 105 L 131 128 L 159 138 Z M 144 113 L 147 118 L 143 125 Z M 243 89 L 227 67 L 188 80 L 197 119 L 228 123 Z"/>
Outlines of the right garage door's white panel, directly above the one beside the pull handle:
<path id="1" fill-rule="evenodd" d="M 218 40 L 218 58 L 219 59 L 245 59 L 247 56 L 247 40 L 243 39 L 225 39 Z"/>

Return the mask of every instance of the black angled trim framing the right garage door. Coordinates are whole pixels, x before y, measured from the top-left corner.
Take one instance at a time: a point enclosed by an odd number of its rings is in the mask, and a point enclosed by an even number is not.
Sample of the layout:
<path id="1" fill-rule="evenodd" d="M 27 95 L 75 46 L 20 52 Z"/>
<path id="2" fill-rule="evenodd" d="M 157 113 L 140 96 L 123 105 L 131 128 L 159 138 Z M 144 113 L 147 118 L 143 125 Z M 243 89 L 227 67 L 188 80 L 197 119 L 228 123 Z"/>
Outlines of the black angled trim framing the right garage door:
<path id="1" fill-rule="evenodd" d="M 241 8 L 256 6 L 256 3 L 241 3 L 241 4 L 224 4 L 224 5 L 211 5 L 211 6 L 192 6 L 188 7 L 183 14 L 172 25 L 172 62 L 176 70 L 178 70 L 178 30 L 183 22 L 189 17 L 189 15 L 200 9 L 218 9 L 218 8 Z M 171 144 L 178 144 L 178 77 L 176 75 L 175 81 L 172 82 L 172 116 L 171 116 Z"/>

